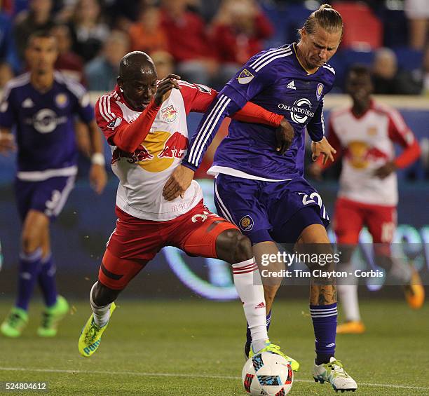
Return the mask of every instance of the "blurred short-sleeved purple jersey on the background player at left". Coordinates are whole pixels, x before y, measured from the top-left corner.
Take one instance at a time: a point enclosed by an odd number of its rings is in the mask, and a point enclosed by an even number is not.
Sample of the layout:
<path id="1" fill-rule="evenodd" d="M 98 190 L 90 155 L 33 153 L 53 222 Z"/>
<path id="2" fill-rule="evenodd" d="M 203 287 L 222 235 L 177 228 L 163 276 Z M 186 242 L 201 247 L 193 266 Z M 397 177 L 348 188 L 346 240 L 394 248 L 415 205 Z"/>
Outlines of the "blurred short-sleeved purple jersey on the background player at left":
<path id="1" fill-rule="evenodd" d="M 74 117 L 93 120 L 85 88 L 55 72 L 53 86 L 42 93 L 29 73 L 11 80 L 0 104 L 0 128 L 15 128 L 18 178 L 40 181 L 77 172 Z"/>

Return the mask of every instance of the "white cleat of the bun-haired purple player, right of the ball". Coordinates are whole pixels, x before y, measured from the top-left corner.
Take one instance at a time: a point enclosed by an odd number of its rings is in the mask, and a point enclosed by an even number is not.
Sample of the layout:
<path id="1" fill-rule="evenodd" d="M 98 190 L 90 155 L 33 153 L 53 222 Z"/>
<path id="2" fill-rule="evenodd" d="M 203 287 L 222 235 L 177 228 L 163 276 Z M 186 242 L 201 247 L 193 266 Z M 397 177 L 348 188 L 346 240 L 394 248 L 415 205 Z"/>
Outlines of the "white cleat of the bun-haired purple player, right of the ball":
<path id="1" fill-rule="evenodd" d="M 343 364 L 331 357 L 329 363 L 315 364 L 313 367 L 314 381 L 324 383 L 329 382 L 335 392 L 339 390 L 345 392 L 351 390 L 354 392 L 357 389 L 356 381 L 351 378 L 343 369 Z"/>

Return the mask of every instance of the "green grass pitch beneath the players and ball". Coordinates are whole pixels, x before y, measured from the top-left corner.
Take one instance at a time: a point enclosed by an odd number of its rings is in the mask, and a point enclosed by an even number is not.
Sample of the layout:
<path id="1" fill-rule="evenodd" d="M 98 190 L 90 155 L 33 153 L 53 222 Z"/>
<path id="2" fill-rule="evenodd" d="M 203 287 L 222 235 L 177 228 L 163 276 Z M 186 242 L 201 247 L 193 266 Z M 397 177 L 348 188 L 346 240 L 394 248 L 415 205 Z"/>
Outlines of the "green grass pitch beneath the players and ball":
<path id="1" fill-rule="evenodd" d="M 120 299 L 99 350 L 83 358 L 77 340 L 90 308 L 70 302 L 55 339 L 36 336 L 37 304 L 20 339 L 0 338 L 0 381 L 48 381 L 53 395 L 245 395 L 240 303 Z M 2 318 L 9 308 L 0 304 Z M 415 312 L 400 300 L 366 301 L 362 314 L 366 334 L 337 337 L 336 357 L 358 384 L 349 395 L 429 395 L 429 306 Z M 306 301 L 276 302 L 270 336 L 301 362 L 290 395 L 335 394 L 311 378 Z"/>

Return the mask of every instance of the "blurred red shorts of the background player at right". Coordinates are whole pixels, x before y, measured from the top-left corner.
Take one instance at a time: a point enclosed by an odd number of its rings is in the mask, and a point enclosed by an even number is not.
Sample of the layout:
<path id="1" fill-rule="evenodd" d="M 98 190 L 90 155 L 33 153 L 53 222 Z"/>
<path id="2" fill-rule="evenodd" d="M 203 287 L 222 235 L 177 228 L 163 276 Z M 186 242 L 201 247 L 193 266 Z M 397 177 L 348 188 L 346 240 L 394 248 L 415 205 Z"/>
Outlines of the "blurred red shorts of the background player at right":
<path id="1" fill-rule="evenodd" d="M 355 245 L 363 226 L 367 226 L 377 244 L 390 244 L 397 225 L 395 206 L 370 205 L 346 198 L 335 204 L 334 231 L 336 242 Z"/>

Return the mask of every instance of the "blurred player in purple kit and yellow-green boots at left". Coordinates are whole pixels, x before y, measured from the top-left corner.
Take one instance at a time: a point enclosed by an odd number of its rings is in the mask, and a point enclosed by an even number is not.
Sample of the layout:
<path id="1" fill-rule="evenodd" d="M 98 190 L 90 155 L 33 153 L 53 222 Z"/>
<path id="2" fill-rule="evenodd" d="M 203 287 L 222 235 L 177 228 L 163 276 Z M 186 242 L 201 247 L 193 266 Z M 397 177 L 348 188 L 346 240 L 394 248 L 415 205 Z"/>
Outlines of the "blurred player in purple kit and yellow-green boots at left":
<path id="1" fill-rule="evenodd" d="M 85 88 L 54 71 L 57 43 L 50 34 L 29 37 L 29 73 L 10 81 L 0 102 L 0 153 L 18 146 L 15 194 L 22 220 L 18 298 L 1 324 L 1 333 L 18 337 L 28 322 L 27 309 L 37 281 L 46 308 L 37 330 L 55 336 L 68 303 L 57 294 L 50 253 L 49 224 L 60 214 L 77 173 L 74 117 L 88 125 L 93 148 L 90 182 L 101 193 L 107 182 L 102 137 Z"/>

